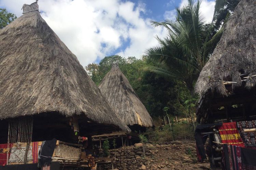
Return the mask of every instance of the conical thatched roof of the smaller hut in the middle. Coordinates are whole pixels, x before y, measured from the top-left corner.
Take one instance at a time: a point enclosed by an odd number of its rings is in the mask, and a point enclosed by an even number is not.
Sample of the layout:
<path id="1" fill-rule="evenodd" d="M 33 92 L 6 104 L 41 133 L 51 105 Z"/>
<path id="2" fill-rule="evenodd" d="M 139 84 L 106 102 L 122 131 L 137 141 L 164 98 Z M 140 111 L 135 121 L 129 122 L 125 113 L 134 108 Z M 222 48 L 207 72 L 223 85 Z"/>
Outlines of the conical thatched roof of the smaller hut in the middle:
<path id="1" fill-rule="evenodd" d="M 99 89 L 126 125 L 152 126 L 150 114 L 117 64 L 105 75 Z"/>

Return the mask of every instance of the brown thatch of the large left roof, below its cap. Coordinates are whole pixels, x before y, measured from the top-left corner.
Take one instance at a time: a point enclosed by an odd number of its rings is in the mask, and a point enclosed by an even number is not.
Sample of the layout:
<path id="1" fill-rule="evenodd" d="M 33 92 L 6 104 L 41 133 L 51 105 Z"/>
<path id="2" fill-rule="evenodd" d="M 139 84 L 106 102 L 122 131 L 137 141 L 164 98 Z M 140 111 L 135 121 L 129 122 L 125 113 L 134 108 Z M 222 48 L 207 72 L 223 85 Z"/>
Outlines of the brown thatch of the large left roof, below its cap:
<path id="1" fill-rule="evenodd" d="M 29 12 L 0 30 L 0 119 L 53 111 L 129 131 L 76 56 Z"/>

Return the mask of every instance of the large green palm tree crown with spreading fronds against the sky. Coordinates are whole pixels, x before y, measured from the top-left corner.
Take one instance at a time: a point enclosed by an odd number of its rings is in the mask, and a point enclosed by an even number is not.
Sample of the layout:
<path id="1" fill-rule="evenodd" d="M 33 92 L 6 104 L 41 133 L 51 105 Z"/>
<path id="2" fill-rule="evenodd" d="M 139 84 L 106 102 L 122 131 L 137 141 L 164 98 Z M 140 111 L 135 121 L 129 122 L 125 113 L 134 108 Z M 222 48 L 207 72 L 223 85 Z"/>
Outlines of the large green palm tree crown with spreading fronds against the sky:
<path id="1" fill-rule="evenodd" d="M 148 64 L 144 70 L 166 78 L 177 78 L 193 94 L 193 84 L 207 63 L 222 30 L 214 35 L 212 24 L 204 24 L 199 11 L 201 1 L 188 0 L 188 5 L 176 8 L 176 20 L 151 21 L 154 27 L 167 29 L 166 38 L 159 38 L 159 45 L 145 51 Z"/>

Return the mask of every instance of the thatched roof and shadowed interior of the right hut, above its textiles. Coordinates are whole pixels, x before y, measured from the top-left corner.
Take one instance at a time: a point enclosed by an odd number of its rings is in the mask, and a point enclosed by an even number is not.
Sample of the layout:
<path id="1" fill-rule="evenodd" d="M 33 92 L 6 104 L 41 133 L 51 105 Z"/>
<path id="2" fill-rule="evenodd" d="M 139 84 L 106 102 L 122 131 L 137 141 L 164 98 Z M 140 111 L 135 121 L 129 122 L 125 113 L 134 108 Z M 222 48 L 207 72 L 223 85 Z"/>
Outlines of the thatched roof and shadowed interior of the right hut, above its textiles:
<path id="1" fill-rule="evenodd" d="M 241 0 L 224 28 L 195 87 L 201 123 L 256 118 L 256 2 Z"/>

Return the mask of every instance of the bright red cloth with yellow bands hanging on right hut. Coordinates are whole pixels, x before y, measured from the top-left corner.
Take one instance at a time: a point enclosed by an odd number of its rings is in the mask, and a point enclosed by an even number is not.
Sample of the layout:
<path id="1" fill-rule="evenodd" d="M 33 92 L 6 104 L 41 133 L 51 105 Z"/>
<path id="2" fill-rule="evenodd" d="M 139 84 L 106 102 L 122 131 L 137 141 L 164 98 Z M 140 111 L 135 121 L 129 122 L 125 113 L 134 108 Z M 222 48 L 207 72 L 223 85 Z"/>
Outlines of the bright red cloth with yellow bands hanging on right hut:
<path id="1" fill-rule="evenodd" d="M 236 122 L 223 123 L 222 126 L 219 127 L 219 134 L 221 135 L 222 143 L 244 148 L 244 143 L 237 130 Z"/>

